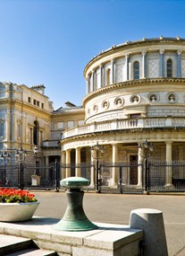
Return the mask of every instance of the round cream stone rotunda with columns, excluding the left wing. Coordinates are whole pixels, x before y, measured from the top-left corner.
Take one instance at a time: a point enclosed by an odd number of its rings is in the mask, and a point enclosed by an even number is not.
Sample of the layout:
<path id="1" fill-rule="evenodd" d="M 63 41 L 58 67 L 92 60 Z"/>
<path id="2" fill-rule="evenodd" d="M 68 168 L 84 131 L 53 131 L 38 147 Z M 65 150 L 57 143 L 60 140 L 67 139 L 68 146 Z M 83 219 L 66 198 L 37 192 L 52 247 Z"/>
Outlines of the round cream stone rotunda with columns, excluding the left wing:
<path id="1" fill-rule="evenodd" d="M 159 161 L 185 156 L 185 40 L 156 38 L 126 41 L 100 52 L 85 66 L 85 124 L 63 132 L 62 162 L 92 163 L 90 147 L 104 146 L 106 163 L 141 163 L 145 142 Z M 141 145 L 141 146 L 140 146 Z M 66 169 L 65 177 L 71 176 Z M 74 175 L 80 176 L 80 168 Z M 142 186 L 139 168 L 128 171 L 129 184 Z M 91 171 L 92 186 L 96 175 Z M 167 185 L 172 183 L 168 172 Z M 109 185 L 118 184 L 113 168 Z"/>

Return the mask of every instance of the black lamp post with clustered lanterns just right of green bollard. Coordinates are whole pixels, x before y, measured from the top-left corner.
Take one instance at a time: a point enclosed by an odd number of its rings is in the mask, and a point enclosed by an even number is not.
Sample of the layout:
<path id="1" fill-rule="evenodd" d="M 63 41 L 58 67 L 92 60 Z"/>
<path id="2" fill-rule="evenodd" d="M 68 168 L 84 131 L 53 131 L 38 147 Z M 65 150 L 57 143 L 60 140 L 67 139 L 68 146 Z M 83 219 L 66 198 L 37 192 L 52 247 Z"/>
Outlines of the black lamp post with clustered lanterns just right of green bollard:
<path id="1" fill-rule="evenodd" d="M 97 169 L 97 182 L 96 182 L 96 190 L 99 193 L 99 160 L 103 157 L 105 153 L 104 146 L 99 146 L 98 142 L 97 145 L 91 146 L 90 148 L 92 157 L 97 161 L 96 169 Z"/>

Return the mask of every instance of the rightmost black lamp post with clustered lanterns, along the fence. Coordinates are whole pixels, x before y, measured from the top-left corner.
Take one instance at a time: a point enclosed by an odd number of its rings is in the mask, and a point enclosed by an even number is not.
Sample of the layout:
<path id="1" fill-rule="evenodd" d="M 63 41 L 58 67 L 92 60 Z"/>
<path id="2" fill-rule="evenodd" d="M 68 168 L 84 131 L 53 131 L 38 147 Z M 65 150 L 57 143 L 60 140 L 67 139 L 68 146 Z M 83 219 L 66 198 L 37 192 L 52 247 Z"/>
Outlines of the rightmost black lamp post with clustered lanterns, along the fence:
<path id="1" fill-rule="evenodd" d="M 147 170 L 148 170 L 148 160 L 147 158 L 150 156 L 148 153 L 152 153 L 154 151 L 154 146 L 152 143 L 148 142 L 147 139 L 142 144 L 139 144 L 139 148 L 143 150 L 143 155 L 140 154 L 141 157 L 144 158 L 144 172 L 145 172 L 145 191 L 147 191 Z"/>

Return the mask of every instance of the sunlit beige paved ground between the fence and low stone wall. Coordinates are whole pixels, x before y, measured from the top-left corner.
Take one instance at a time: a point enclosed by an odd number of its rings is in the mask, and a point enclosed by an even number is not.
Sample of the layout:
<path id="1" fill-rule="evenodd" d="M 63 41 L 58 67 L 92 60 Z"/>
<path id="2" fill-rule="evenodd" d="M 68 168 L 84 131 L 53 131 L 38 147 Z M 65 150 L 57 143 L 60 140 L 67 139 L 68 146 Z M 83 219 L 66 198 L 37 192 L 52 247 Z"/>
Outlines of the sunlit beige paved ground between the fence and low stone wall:
<path id="1" fill-rule="evenodd" d="M 65 193 L 34 193 L 41 202 L 36 216 L 63 217 L 67 205 Z M 129 224 L 132 209 L 147 207 L 162 210 L 169 256 L 185 255 L 185 250 L 182 250 L 185 246 L 185 196 L 86 193 L 83 205 L 91 221 L 124 225 Z"/>

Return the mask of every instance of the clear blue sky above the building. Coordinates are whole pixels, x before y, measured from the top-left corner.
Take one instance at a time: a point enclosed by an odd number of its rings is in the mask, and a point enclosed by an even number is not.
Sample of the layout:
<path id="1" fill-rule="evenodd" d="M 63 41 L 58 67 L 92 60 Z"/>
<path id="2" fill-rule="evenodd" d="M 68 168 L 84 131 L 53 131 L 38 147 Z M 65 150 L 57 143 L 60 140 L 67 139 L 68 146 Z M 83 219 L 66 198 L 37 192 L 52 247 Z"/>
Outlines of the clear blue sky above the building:
<path id="1" fill-rule="evenodd" d="M 0 81 L 46 86 L 54 107 L 85 96 L 88 61 L 143 37 L 185 38 L 183 0 L 0 0 Z"/>

